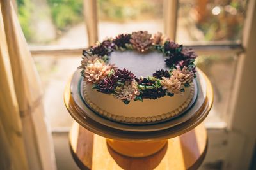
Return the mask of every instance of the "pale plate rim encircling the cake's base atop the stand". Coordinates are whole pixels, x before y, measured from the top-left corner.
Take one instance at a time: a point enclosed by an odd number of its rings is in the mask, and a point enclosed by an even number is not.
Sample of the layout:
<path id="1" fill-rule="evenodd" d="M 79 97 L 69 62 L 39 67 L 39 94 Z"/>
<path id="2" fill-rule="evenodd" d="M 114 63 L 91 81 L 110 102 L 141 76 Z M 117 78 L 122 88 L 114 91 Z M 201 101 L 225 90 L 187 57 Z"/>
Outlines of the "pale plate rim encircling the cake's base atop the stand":
<path id="1" fill-rule="evenodd" d="M 77 90 L 79 90 L 79 88 L 77 88 L 77 78 L 80 77 L 80 74 L 77 75 L 77 72 L 74 73 L 74 76 L 72 77 L 72 82 L 70 85 L 70 91 L 71 91 L 71 96 L 75 101 L 76 104 L 76 109 L 78 110 L 78 112 L 84 116 L 84 117 L 89 117 L 92 120 L 95 120 L 96 122 L 99 122 L 100 124 L 106 125 L 108 127 L 114 128 L 114 129 L 119 129 L 122 131 L 135 131 L 135 132 L 150 132 L 150 131 L 161 131 L 164 129 L 168 129 L 170 127 L 174 127 L 175 125 L 179 125 L 182 124 L 183 122 L 186 122 L 187 120 L 189 120 L 190 118 L 192 118 L 193 116 L 195 116 L 196 111 L 200 110 L 200 108 L 202 107 L 202 105 L 204 104 L 204 100 L 205 100 L 205 91 L 206 89 L 202 89 L 201 83 L 204 83 L 204 80 L 198 80 L 200 82 L 200 85 L 198 85 L 198 89 L 202 90 L 202 92 L 198 92 L 197 94 L 197 98 L 204 97 L 204 99 L 197 99 L 195 101 L 195 103 L 193 104 L 194 107 L 196 104 L 199 105 L 197 106 L 197 108 L 189 108 L 190 110 L 187 111 L 187 113 L 184 114 L 180 114 L 178 117 L 175 117 L 173 119 L 170 120 L 166 120 L 163 122 L 159 122 L 159 123 L 155 123 L 155 124 L 141 124 L 141 125 L 132 125 L 132 124 L 122 124 L 120 122 L 115 122 L 113 120 L 109 120 L 108 118 L 104 118 L 102 116 L 100 116 L 99 114 L 95 113 L 94 111 L 92 111 L 88 106 L 86 106 L 86 104 L 81 103 L 82 99 L 81 96 L 77 96 Z M 202 76 L 199 74 L 198 78 L 202 78 Z M 75 80 L 74 80 L 75 79 Z M 75 82 L 74 82 L 75 81 Z M 198 90 L 198 91 L 200 91 Z M 79 103 L 79 104 L 77 104 Z M 84 111 L 86 110 L 86 111 Z"/>

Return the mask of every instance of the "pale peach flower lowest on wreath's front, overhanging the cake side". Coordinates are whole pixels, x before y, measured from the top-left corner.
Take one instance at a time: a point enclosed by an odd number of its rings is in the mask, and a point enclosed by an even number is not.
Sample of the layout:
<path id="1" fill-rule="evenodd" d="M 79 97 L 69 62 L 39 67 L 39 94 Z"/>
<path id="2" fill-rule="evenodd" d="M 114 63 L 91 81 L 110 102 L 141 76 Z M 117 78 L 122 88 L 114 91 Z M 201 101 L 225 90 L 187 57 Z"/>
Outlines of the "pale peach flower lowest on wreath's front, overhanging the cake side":
<path id="1" fill-rule="evenodd" d="M 140 95 L 140 92 L 137 87 L 136 81 L 132 81 L 128 85 L 124 85 L 123 87 L 116 88 L 116 99 L 121 99 L 122 101 L 132 101 L 136 98 L 136 96 Z"/>

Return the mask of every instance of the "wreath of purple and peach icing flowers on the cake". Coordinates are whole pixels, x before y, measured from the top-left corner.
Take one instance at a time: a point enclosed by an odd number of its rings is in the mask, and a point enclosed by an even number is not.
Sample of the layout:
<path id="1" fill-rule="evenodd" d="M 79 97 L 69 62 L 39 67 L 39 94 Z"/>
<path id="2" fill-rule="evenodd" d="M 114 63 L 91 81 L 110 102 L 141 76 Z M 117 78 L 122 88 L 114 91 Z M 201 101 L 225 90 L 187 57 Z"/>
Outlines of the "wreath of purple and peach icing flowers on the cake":
<path id="1" fill-rule="evenodd" d="M 108 63 L 110 53 L 115 50 L 137 50 L 141 53 L 157 50 L 166 56 L 165 63 L 169 70 L 159 69 L 147 78 L 136 78 L 131 71 Z M 183 93 L 196 77 L 196 57 L 191 48 L 170 41 L 160 32 L 152 36 L 147 31 L 138 31 L 108 38 L 83 50 L 83 60 L 77 69 L 83 69 L 83 80 L 93 85 L 93 89 L 111 94 L 128 104 L 132 100 L 143 101 Z"/>

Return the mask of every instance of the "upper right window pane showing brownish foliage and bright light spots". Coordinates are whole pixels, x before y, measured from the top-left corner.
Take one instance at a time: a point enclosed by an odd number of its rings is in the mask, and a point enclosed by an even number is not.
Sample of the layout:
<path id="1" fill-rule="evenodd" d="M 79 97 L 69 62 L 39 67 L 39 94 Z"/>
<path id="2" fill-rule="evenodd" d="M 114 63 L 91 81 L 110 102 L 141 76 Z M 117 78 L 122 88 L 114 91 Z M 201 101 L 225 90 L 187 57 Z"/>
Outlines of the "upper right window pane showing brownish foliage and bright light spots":
<path id="1" fill-rule="evenodd" d="M 186 43 L 241 39 L 245 5 L 243 0 L 180 0 L 177 40 Z"/>

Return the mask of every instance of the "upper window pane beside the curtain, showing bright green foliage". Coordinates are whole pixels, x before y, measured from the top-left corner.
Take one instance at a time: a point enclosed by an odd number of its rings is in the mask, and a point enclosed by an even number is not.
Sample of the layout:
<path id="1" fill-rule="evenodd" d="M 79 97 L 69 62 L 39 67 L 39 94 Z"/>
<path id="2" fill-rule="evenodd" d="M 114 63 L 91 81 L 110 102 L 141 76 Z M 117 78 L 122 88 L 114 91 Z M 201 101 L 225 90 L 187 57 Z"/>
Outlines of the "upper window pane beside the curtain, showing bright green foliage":
<path id="1" fill-rule="evenodd" d="M 87 45 L 83 0 L 17 0 L 29 45 Z"/>

